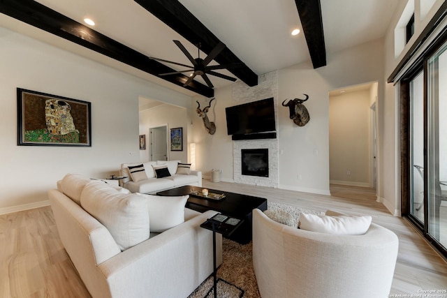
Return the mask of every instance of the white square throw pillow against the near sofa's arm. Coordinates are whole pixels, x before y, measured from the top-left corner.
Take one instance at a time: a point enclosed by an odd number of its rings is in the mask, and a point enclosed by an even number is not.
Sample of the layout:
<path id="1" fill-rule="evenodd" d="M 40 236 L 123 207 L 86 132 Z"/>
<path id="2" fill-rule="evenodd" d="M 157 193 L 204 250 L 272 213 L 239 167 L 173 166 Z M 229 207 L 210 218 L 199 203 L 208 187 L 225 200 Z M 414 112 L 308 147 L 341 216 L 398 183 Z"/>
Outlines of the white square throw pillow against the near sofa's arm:
<path id="1" fill-rule="evenodd" d="M 149 226 L 152 233 L 161 233 L 184 222 L 184 206 L 189 195 L 163 197 L 136 193 L 147 199 Z"/>

